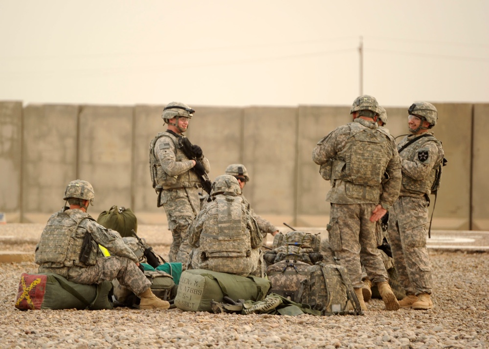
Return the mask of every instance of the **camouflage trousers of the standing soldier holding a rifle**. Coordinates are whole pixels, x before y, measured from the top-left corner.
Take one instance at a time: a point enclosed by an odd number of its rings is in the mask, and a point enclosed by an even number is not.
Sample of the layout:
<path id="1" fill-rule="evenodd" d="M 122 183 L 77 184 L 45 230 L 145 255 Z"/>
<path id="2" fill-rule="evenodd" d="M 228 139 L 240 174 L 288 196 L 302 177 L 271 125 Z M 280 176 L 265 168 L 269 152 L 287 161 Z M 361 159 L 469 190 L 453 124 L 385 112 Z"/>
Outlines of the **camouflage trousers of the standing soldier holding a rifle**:
<path id="1" fill-rule="evenodd" d="M 163 190 L 163 205 L 173 241 L 168 259 L 185 265 L 192 246 L 188 243 L 188 227 L 200 211 L 198 188 Z"/>

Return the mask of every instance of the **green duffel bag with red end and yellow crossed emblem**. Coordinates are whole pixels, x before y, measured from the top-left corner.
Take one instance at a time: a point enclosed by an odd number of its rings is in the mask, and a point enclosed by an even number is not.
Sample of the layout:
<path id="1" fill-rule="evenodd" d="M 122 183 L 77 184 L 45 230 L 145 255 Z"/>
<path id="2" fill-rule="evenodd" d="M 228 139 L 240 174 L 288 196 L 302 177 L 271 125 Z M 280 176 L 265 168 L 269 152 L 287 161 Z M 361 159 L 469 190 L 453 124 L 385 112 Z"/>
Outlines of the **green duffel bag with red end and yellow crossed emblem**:
<path id="1" fill-rule="evenodd" d="M 112 283 L 76 284 L 53 273 L 22 273 L 15 307 L 34 309 L 112 309 Z"/>

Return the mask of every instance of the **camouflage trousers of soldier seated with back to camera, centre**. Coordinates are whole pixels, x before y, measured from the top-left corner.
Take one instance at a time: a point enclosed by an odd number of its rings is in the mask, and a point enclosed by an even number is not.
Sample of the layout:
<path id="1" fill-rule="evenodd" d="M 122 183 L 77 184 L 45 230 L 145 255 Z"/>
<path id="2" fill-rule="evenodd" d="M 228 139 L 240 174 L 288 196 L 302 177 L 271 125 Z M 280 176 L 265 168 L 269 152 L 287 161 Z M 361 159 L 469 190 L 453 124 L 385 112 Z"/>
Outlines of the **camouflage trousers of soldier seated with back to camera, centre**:
<path id="1" fill-rule="evenodd" d="M 190 254 L 189 269 L 206 269 L 240 276 L 265 277 L 263 252 L 259 248 L 253 248 L 248 257 L 211 257 L 202 259 L 202 251 L 199 247 L 194 248 Z"/>

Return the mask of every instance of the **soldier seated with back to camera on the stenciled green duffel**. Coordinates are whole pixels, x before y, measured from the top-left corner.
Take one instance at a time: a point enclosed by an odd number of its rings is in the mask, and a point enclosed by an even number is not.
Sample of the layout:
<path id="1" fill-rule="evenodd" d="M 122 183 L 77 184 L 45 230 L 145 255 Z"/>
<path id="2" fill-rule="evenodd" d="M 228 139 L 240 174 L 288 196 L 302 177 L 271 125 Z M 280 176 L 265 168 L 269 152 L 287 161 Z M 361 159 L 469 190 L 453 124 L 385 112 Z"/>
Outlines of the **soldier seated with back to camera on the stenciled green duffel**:
<path id="1" fill-rule="evenodd" d="M 188 268 L 263 277 L 262 235 L 236 178 L 218 176 L 210 197 L 189 227 Z"/>

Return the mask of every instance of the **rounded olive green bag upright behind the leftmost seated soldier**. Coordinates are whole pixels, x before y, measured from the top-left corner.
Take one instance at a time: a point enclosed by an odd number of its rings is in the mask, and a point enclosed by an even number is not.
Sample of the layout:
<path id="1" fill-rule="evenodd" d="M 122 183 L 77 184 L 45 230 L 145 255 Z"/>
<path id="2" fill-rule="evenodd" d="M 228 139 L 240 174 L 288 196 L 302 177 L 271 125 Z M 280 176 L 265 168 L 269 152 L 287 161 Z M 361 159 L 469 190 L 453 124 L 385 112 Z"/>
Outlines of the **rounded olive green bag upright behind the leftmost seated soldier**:
<path id="1" fill-rule="evenodd" d="M 109 211 L 104 211 L 98 216 L 97 223 L 115 230 L 123 238 L 132 237 L 131 230 L 137 233 L 137 218 L 130 208 L 118 208 L 114 205 Z"/>

